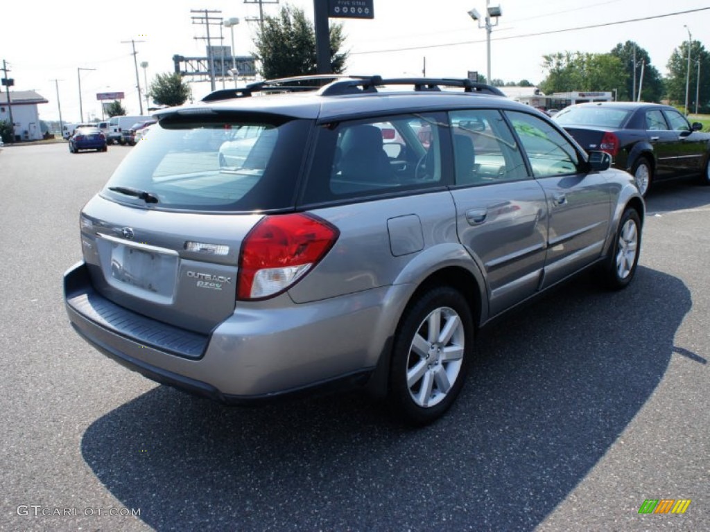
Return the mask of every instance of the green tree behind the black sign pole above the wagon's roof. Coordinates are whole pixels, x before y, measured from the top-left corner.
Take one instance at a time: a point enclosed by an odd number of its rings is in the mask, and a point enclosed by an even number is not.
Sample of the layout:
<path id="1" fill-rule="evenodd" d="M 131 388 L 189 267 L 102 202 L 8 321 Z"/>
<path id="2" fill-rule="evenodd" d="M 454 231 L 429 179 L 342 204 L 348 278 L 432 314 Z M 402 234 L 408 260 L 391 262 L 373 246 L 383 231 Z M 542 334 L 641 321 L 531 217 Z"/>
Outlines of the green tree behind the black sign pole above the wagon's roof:
<path id="1" fill-rule="evenodd" d="M 330 67 L 334 74 L 345 70 L 348 52 L 341 52 L 345 41 L 342 24 L 330 26 Z M 256 58 L 265 79 L 300 76 L 317 72 L 315 29 L 305 12 L 283 6 L 278 16 L 267 16 L 256 31 Z"/>

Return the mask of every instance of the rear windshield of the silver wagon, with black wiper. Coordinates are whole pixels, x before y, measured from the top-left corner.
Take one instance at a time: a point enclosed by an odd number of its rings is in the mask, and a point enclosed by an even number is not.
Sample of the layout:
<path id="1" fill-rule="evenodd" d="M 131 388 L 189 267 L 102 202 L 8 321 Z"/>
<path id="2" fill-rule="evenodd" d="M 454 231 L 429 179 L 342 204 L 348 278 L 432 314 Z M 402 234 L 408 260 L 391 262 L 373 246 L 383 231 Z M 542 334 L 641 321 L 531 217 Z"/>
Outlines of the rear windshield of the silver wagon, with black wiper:
<path id="1" fill-rule="evenodd" d="M 274 116 L 161 121 L 121 162 L 102 195 L 151 209 L 292 208 L 309 130 L 310 121 Z M 158 201 L 146 203 L 136 191 Z"/>

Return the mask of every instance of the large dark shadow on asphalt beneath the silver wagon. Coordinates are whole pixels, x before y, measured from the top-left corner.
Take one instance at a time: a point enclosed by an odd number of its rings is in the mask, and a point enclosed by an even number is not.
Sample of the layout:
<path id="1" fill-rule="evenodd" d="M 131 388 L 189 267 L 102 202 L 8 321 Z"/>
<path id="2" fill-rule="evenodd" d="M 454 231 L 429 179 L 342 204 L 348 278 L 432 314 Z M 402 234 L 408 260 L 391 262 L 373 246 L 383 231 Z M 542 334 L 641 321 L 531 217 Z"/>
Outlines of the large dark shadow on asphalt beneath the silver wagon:
<path id="1" fill-rule="evenodd" d="M 531 530 L 644 406 L 692 306 L 645 267 L 622 292 L 591 277 L 484 331 L 427 428 L 360 394 L 244 409 L 156 387 L 94 421 L 82 455 L 156 530 Z"/>

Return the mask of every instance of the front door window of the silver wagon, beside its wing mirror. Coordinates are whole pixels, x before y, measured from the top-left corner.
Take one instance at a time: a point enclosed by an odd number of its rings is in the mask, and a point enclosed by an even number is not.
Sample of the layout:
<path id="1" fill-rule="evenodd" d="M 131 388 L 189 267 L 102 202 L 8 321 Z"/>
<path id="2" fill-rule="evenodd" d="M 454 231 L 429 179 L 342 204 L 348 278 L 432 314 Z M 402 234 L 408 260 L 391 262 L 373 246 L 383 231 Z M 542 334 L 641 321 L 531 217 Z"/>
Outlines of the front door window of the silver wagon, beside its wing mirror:
<path id="1" fill-rule="evenodd" d="M 506 111 L 506 114 L 523 143 L 535 177 L 579 172 L 577 150 L 557 129 L 528 113 Z"/>

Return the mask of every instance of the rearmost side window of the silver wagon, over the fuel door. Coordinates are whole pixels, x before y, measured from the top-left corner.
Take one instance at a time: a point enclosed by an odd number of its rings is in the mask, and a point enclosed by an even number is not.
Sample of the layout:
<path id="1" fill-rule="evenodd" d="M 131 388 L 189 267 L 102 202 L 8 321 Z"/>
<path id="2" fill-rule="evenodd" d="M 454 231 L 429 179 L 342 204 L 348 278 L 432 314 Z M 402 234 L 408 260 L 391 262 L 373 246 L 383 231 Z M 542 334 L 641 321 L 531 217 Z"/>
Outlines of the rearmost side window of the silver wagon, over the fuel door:
<path id="1" fill-rule="evenodd" d="M 443 186 L 446 128 L 444 113 L 322 124 L 305 203 Z"/>

